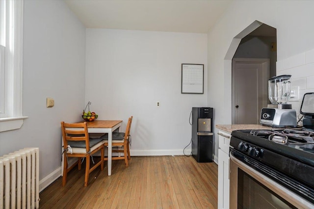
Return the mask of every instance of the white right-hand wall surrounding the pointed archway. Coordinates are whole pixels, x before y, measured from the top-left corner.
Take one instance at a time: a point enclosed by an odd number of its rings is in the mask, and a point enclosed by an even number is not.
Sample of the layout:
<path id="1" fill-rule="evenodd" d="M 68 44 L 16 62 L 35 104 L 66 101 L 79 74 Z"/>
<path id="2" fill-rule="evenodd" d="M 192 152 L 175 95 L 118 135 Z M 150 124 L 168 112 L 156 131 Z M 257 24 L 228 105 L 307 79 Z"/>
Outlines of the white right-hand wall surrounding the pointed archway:
<path id="1" fill-rule="evenodd" d="M 314 49 L 314 1 L 234 1 L 208 33 L 209 101 L 216 108 L 215 124 L 231 124 L 231 62 L 224 61 L 234 37 L 254 21 L 277 28 L 277 61 Z M 304 62 L 305 63 L 305 62 Z M 294 64 L 297 64 L 294 62 Z M 312 64 L 277 73 L 302 72 L 303 80 L 313 81 Z M 281 70 L 280 70 L 281 69 Z M 281 71 L 281 72 L 279 72 Z M 302 93 L 313 91 L 308 85 Z M 211 98 L 214 98 L 211 100 Z M 217 131 L 216 131 L 217 132 Z M 218 138 L 218 136 L 215 136 Z M 216 145 L 217 153 L 217 145 Z"/>

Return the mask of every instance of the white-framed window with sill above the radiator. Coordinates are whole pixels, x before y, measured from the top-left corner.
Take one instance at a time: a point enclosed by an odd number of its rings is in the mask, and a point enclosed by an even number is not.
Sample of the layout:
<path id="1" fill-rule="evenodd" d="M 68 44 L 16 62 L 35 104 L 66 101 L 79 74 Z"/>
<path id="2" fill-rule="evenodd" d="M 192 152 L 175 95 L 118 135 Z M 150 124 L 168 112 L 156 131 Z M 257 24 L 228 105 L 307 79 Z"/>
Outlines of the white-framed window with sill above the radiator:
<path id="1" fill-rule="evenodd" d="M 23 0 L 0 0 L 0 132 L 21 128 Z"/>

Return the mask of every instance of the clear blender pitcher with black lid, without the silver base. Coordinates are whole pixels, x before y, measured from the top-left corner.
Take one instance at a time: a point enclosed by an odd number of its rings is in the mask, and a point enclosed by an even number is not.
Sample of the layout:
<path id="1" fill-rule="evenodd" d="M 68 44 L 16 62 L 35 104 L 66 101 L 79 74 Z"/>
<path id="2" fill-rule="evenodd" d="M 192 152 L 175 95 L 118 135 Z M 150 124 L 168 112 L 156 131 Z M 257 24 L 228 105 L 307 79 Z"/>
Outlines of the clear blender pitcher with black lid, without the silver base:
<path id="1" fill-rule="evenodd" d="M 268 99 L 272 104 L 287 104 L 291 92 L 291 75 L 282 75 L 268 80 Z"/>

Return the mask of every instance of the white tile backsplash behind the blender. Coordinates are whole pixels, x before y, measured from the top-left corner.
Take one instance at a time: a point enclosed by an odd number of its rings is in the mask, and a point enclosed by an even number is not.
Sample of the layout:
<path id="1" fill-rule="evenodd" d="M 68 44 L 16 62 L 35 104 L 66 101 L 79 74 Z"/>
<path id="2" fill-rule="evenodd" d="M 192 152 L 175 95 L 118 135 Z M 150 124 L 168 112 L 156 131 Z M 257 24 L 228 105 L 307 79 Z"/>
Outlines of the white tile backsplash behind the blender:
<path id="1" fill-rule="evenodd" d="M 277 76 L 280 75 L 291 75 L 291 89 L 299 89 L 299 97 L 291 98 L 288 103 L 296 110 L 297 117 L 301 117 L 303 95 L 314 92 L 314 49 L 277 61 Z"/>

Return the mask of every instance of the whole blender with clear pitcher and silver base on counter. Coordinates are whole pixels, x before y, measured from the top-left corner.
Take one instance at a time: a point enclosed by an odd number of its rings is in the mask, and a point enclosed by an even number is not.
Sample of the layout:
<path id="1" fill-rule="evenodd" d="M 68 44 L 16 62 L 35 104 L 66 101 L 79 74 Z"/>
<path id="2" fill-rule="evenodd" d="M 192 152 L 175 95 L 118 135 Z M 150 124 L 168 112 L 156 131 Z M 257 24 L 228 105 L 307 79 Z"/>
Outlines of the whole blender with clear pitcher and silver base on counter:
<path id="1" fill-rule="evenodd" d="M 271 104 L 262 108 L 261 124 L 273 128 L 295 128 L 296 111 L 287 104 L 291 92 L 291 75 L 282 75 L 268 80 L 268 99 Z"/>

